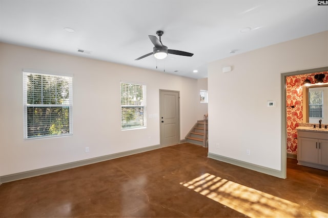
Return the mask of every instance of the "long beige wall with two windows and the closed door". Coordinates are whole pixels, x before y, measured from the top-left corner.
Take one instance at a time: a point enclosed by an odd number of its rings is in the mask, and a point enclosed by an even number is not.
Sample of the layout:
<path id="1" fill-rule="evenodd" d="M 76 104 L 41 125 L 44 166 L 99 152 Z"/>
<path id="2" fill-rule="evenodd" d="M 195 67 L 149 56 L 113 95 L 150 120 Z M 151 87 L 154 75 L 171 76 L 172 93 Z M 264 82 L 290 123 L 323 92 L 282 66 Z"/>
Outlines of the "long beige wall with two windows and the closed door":
<path id="1" fill-rule="evenodd" d="M 23 139 L 23 69 L 73 75 L 72 136 Z M 120 81 L 147 85 L 147 129 L 120 130 Z M 159 144 L 159 89 L 180 91 L 184 139 L 203 113 L 197 80 L 0 43 L 0 176 Z"/>

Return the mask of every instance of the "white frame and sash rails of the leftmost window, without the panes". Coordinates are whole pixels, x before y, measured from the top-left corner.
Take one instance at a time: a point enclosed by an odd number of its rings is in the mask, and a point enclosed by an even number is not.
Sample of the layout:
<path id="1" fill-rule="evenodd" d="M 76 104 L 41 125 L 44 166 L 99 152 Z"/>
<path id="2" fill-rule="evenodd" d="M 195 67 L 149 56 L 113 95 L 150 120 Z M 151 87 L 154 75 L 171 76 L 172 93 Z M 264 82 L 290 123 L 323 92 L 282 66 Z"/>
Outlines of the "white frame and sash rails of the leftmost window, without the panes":
<path id="1" fill-rule="evenodd" d="M 40 75 L 45 77 L 59 77 L 61 79 L 65 79 L 68 82 L 68 99 L 63 101 L 63 104 L 29 104 L 28 103 L 28 76 L 29 75 Z M 42 85 L 43 86 L 43 85 Z M 43 89 L 43 87 L 41 88 Z M 38 89 L 40 90 L 40 89 Z M 43 95 L 42 95 L 43 96 Z M 44 98 L 44 97 L 42 97 Z M 58 75 L 58 74 L 51 74 L 47 72 L 38 72 L 34 70 L 23 70 L 23 119 L 24 119 L 24 139 L 25 140 L 32 140 L 32 139 L 42 139 L 42 138 L 54 138 L 54 137 L 63 137 L 73 135 L 73 122 L 72 122 L 72 109 L 73 109 L 73 76 L 68 75 Z M 29 136 L 28 131 L 28 108 L 68 108 L 68 132 L 67 133 L 57 133 L 57 134 L 45 134 L 39 136 Z M 64 111 L 64 110 L 63 110 Z M 65 112 L 63 112 L 65 113 Z"/>

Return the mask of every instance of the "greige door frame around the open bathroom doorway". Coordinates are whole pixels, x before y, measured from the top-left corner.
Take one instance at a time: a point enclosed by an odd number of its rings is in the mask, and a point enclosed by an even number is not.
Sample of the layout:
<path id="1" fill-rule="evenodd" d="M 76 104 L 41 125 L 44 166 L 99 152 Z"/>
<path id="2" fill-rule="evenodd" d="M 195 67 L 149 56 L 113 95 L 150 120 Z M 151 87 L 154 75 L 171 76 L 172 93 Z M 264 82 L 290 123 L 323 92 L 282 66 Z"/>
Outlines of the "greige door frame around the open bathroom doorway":
<path id="1" fill-rule="evenodd" d="M 287 171 L 287 110 L 286 110 L 286 77 L 312 74 L 314 72 L 328 71 L 327 67 L 298 70 L 281 74 L 281 178 L 286 178 Z"/>

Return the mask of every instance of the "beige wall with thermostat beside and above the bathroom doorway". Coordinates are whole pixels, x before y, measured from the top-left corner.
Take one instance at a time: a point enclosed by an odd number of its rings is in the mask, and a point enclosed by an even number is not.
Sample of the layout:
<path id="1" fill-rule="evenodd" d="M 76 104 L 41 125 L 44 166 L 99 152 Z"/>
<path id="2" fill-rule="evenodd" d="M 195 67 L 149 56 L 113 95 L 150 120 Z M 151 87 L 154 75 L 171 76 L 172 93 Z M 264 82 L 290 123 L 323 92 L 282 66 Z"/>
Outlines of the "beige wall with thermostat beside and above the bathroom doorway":
<path id="1" fill-rule="evenodd" d="M 281 74 L 324 66 L 327 31 L 212 62 L 209 152 L 281 171 Z"/>

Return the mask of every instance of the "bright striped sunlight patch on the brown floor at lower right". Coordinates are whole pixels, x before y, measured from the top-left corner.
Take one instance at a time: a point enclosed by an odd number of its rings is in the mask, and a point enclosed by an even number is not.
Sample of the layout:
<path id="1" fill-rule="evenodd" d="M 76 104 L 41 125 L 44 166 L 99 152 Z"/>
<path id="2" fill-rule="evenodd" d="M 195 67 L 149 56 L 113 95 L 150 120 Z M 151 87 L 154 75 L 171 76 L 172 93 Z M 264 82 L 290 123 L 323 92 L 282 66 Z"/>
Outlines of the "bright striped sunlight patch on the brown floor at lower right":
<path id="1" fill-rule="evenodd" d="M 189 182 L 181 182 L 180 185 L 250 217 L 295 217 L 301 215 L 299 213 L 300 206 L 296 203 L 209 173 Z M 309 216 L 327 217 L 328 214 L 312 211 Z"/>

